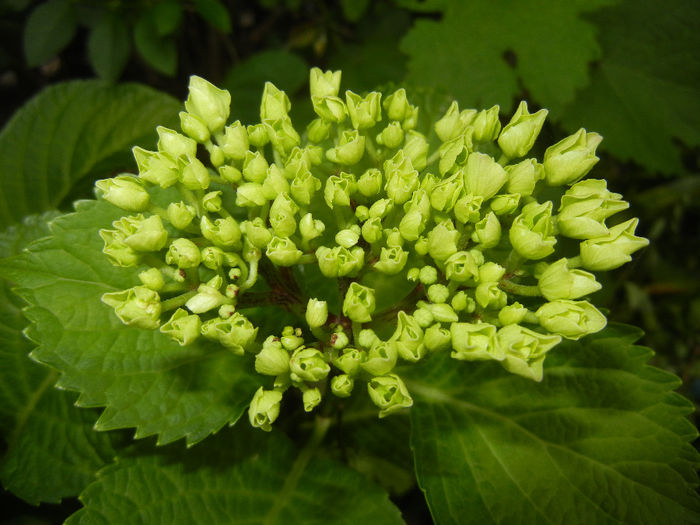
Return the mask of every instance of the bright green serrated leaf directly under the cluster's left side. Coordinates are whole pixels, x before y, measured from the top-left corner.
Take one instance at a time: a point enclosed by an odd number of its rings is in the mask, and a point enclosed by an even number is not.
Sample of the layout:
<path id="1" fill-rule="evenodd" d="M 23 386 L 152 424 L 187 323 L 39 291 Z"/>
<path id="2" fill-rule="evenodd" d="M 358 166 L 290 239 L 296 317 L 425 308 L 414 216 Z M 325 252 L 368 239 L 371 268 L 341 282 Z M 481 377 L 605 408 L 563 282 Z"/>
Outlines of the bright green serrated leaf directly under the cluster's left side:
<path id="1" fill-rule="evenodd" d="M 0 261 L 0 274 L 21 286 L 30 305 L 28 334 L 40 345 L 32 358 L 62 373 L 58 386 L 79 391 L 78 405 L 105 407 L 98 430 L 136 427 L 137 438 L 191 444 L 233 424 L 259 386 L 253 360 L 124 326 L 100 297 L 139 284 L 137 269 L 113 267 L 97 235 L 123 211 L 78 204 L 52 223 L 52 237 Z"/>

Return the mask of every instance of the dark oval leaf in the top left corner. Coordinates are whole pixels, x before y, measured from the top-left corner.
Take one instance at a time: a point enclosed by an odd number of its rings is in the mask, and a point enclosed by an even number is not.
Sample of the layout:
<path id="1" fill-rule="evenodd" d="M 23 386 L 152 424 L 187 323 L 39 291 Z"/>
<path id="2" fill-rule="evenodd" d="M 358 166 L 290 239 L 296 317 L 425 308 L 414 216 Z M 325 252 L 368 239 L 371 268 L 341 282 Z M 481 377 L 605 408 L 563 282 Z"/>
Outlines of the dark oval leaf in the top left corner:
<path id="1" fill-rule="evenodd" d="M 73 39 L 77 28 L 75 10 L 69 0 L 49 0 L 29 15 L 24 27 L 24 54 L 29 66 L 47 62 Z"/>

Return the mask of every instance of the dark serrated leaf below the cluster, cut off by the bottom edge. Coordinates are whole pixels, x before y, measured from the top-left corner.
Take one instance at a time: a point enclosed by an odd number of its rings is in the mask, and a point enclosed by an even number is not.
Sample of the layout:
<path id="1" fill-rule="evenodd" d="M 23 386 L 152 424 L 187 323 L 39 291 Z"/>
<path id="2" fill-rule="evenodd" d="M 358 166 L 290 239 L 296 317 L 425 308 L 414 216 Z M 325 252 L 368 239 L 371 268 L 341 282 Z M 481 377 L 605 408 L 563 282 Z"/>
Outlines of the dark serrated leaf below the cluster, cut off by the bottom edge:
<path id="1" fill-rule="evenodd" d="M 190 450 L 119 458 L 69 525 L 92 523 L 401 524 L 386 494 L 343 465 L 245 426 Z"/>

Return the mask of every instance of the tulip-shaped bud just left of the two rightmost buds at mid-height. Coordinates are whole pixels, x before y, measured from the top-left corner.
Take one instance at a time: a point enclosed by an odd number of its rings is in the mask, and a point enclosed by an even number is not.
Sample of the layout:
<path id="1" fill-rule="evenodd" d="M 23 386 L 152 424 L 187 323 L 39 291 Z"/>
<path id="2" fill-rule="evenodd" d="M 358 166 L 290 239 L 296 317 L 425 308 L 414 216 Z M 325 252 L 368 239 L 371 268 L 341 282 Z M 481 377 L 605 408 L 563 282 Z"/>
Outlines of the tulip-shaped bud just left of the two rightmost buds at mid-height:
<path id="1" fill-rule="evenodd" d="M 523 206 L 508 233 L 513 248 L 526 259 L 542 259 L 554 251 L 552 202 Z"/>

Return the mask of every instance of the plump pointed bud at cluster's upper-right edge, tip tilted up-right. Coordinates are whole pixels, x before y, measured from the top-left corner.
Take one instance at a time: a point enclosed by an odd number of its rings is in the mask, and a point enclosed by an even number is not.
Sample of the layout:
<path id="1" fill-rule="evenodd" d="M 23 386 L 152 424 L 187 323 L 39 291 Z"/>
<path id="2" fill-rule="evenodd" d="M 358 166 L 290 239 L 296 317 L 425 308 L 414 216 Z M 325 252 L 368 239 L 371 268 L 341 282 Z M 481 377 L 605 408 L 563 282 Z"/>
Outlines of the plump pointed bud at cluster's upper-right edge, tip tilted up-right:
<path id="1" fill-rule="evenodd" d="M 581 128 L 544 152 L 544 173 L 547 184 L 563 186 L 582 179 L 600 160 L 595 149 L 603 140 L 598 133 Z"/>

